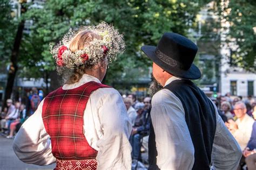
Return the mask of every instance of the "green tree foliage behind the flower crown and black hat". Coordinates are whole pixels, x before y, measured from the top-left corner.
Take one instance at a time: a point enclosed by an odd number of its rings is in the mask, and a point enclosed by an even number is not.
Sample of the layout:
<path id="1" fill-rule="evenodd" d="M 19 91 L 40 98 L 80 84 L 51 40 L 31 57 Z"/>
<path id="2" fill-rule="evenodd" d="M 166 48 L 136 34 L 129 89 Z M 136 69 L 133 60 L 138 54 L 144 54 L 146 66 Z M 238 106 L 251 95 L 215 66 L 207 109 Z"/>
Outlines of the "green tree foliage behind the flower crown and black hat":
<path id="1" fill-rule="evenodd" d="M 150 60 L 140 47 L 156 45 L 165 32 L 187 35 L 193 26 L 200 6 L 207 1 L 46 1 L 43 8 L 28 4 L 23 15 L 32 22 L 30 34 L 23 38 L 21 58 L 22 73 L 29 77 L 42 77 L 55 69 L 49 53 L 49 43 L 58 42 L 69 28 L 81 25 L 112 23 L 124 34 L 126 52 L 107 71 L 107 83 L 129 82 L 147 69 Z M 131 70 L 138 72 L 131 72 Z"/>

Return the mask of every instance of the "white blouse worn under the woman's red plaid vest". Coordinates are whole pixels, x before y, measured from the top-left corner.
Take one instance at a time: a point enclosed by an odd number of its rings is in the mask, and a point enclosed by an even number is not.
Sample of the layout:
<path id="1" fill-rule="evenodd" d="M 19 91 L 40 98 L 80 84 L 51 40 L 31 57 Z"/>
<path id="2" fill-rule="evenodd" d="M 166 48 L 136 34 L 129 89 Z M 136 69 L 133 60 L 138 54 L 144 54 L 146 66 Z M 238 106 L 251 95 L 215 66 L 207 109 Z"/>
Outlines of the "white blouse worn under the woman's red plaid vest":
<path id="1" fill-rule="evenodd" d="M 89 81 L 100 81 L 84 74 L 79 82 L 65 84 L 73 89 Z M 17 157 L 28 164 L 49 165 L 56 161 L 51 153 L 51 140 L 42 120 L 44 100 L 36 112 L 22 125 L 14 139 Z M 131 121 L 122 96 L 113 88 L 99 88 L 90 95 L 84 110 L 84 134 L 91 147 L 98 151 L 97 169 L 131 169 Z"/>

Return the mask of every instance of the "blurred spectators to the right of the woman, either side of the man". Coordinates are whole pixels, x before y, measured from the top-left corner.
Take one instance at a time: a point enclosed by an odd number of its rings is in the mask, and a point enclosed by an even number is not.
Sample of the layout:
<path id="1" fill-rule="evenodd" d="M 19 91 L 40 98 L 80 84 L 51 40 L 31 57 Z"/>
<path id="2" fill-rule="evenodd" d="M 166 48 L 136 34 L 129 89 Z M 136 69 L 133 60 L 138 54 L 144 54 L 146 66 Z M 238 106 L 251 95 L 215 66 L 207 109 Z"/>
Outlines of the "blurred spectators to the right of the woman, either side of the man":
<path id="1" fill-rule="evenodd" d="M 251 96 L 244 100 L 241 96 L 230 94 L 211 99 L 217 105 L 227 129 L 243 150 L 238 169 L 246 166 L 249 170 L 256 169 L 256 101 Z M 133 126 L 130 143 L 132 168 L 136 169 L 138 162 L 147 163 L 147 157 L 143 160 L 141 155 L 142 152 L 146 152 L 146 155 L 148 152 L 151 97 L 145 97 L 140 101 L 136 95 L 130 94 L 124 97 L 124 103 Z"/>

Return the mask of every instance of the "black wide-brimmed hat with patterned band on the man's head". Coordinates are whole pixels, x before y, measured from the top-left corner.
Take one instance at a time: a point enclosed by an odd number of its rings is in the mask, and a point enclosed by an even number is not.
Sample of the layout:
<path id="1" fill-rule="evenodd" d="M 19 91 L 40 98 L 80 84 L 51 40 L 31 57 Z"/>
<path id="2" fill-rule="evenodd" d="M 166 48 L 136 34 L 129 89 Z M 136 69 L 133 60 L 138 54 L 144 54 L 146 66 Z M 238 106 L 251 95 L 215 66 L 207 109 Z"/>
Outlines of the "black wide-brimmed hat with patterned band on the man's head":
<path id="1" fill-rule="evenodd" d="M 165 33 L 157 46 L 142 46 L 142 51 L 166 72 L 180 78 L 196 80 L 201 72 L 193 64 L 197 45 L 177 33 Z"/>

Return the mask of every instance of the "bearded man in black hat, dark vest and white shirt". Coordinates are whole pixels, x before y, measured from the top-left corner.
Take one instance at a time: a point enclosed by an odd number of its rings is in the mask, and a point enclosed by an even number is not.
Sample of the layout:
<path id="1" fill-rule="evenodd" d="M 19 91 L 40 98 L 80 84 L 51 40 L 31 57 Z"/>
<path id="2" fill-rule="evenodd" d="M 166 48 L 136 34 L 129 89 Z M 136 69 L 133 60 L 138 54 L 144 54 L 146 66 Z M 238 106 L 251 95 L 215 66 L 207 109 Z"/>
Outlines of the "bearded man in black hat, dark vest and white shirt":
<path id="1" fill-rule="evenodd" d="M 149 169 L 236 169 L 241 149 L 213 102 L 192 81 L 197 46 L 165 33 L 142 51 L 153 61 Z M 210 167 L 211 166 L 211 167 Z"/>

